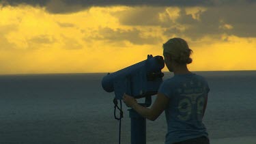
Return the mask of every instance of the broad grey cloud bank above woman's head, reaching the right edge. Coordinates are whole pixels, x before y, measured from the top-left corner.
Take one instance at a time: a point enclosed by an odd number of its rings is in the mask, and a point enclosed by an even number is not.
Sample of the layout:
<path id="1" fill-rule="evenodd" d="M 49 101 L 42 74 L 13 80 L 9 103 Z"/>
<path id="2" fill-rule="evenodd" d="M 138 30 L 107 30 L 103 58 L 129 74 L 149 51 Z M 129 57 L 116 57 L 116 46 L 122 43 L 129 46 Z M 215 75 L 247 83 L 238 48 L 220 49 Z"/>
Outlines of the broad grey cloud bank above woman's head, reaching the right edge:
<path id="1" fill-rule="evenodd" d="M 236 35 L 255 38 L 256 3 L 219 7 L 132 7 L 113 13 L 122 25 L 161 27 L 167 37 L 180 35 L 192 40 Z"/>

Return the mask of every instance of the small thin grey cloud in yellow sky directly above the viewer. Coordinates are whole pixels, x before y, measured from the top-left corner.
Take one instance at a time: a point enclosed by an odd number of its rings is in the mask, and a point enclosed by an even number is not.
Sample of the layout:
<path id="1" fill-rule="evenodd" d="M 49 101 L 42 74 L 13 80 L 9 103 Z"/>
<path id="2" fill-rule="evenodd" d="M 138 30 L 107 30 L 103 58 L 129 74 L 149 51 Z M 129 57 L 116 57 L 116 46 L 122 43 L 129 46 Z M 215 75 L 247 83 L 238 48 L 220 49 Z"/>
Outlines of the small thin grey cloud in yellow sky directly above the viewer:
<path id="1" fill-rule="evenodd" d="M 109 43 L 128 41 L 132 44 L 158 44 L 162 42 L 160 38 L 151 35 L 141 35 L 143 32 L 139 29 L 111 29 L 109 27 L 100 28 L 98 35 L 92 36 L 90 39 L 102 40 Z"/>

